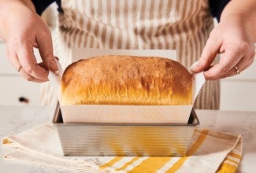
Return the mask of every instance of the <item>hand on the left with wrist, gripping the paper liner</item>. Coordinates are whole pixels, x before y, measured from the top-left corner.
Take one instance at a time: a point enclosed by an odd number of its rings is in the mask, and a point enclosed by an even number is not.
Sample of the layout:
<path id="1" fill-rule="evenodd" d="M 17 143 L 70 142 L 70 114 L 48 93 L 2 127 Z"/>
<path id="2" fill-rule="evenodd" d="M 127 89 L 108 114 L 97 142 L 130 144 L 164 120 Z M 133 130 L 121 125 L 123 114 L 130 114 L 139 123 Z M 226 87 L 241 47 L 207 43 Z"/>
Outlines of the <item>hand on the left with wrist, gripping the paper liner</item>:
<path id="1" fill-rule="evenodd" d="M 28 81 L 43 83 L 49 70 L 57 71 L 50 30 L 35 11 L 20 1 L 6 1 L 0 5 L 2 28 L 0 35 L 6 40 L 6 53 L 14 68 Z M 4 12 L 3 12 L 4 11 Z M 43 62 L 37 63 L 33 47 L 39 49 Z"/>

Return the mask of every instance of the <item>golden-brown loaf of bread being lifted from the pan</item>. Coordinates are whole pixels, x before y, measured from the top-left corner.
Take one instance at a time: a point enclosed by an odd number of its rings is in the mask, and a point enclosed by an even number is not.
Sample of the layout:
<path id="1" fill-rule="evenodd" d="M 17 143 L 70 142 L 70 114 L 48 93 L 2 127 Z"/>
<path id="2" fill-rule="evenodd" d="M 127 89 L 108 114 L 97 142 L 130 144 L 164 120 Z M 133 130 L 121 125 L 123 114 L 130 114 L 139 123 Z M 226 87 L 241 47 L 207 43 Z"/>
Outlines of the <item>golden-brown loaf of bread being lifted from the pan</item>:
<path id="1" fill-rule="evenodd" d="M 191 105 L 191 98 L 187 68 L 161 57 L 91 57 L 61 79 L 61 105 Z"/>

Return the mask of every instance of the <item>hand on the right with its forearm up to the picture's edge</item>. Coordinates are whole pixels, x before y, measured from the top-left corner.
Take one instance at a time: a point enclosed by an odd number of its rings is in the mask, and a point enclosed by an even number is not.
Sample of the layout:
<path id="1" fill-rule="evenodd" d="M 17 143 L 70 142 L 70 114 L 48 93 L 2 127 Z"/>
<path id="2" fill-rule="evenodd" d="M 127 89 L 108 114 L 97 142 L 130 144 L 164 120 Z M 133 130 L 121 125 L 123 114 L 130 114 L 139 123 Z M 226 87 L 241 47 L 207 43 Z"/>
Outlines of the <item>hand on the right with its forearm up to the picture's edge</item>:
<path id="1" fill-rule="evenodd" d="M 206 79 L 222 79 L 243 72 L 254 61 L 256 1 L 232 0 L 221 13 L 221 22 L 210 33 L 192 72 L 204 72 Z M 220 61 L 211 66 L 217 53 Z"/>

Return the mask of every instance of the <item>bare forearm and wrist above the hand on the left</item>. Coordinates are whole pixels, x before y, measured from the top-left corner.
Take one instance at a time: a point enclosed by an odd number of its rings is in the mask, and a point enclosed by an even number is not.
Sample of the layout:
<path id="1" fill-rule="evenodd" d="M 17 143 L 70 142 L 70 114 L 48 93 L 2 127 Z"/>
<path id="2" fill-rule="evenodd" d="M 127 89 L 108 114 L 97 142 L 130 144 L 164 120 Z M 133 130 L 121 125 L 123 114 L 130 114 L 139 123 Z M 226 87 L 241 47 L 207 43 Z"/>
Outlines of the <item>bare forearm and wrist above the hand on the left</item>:
<path id="1" fill-rule="evenodd" d="M 0 38 L 6 39 L 5 35 L 8 30 L 6 21 L 9 20 L 18 6 L 27 6 L 35 12 L 35 6 L 31 0 L 0 0 Z"/>

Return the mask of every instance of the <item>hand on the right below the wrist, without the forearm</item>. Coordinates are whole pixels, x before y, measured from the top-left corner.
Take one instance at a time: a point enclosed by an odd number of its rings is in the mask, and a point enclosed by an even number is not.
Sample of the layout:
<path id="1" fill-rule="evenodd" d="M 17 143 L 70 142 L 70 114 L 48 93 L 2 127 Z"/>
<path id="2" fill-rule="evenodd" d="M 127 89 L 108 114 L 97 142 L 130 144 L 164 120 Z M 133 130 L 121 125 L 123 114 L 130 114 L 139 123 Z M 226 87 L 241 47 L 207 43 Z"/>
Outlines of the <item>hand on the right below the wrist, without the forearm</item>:
<path id="1" fill-rule="evenodd" d="M 243 72 L 254 61 L 254 40 L 241 17 L 228 17 L 213 28 L 202 55 L 192 72 L 204 72 L 207 80 L 222 79 Z M 220 61 L 210 66 L 217 53 L 221 53 Z M 237 69 L 239 71 L 237 71 Z"/>

